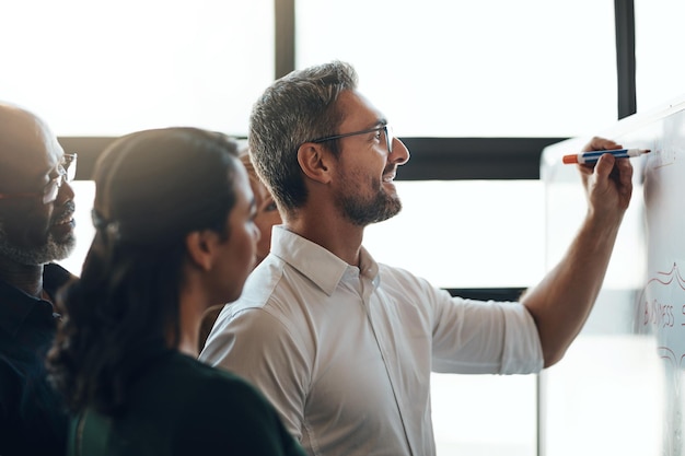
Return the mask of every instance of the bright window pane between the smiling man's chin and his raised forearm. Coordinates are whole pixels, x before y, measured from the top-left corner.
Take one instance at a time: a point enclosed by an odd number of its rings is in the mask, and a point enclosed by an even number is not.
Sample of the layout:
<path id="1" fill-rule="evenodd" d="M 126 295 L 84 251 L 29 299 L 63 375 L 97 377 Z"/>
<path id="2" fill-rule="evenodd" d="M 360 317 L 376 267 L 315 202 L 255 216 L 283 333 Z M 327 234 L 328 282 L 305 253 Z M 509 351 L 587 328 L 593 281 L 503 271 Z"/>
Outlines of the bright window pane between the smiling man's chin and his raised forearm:
<path id="1" fill-rule="evenodd" d="M 411 166 L 411 161 L 406 166 Z M 544 272 L 538 180 L 397 182 L 402 212 L 367 227 L 381 262 L 442 288 L 527 288 Z"/>

